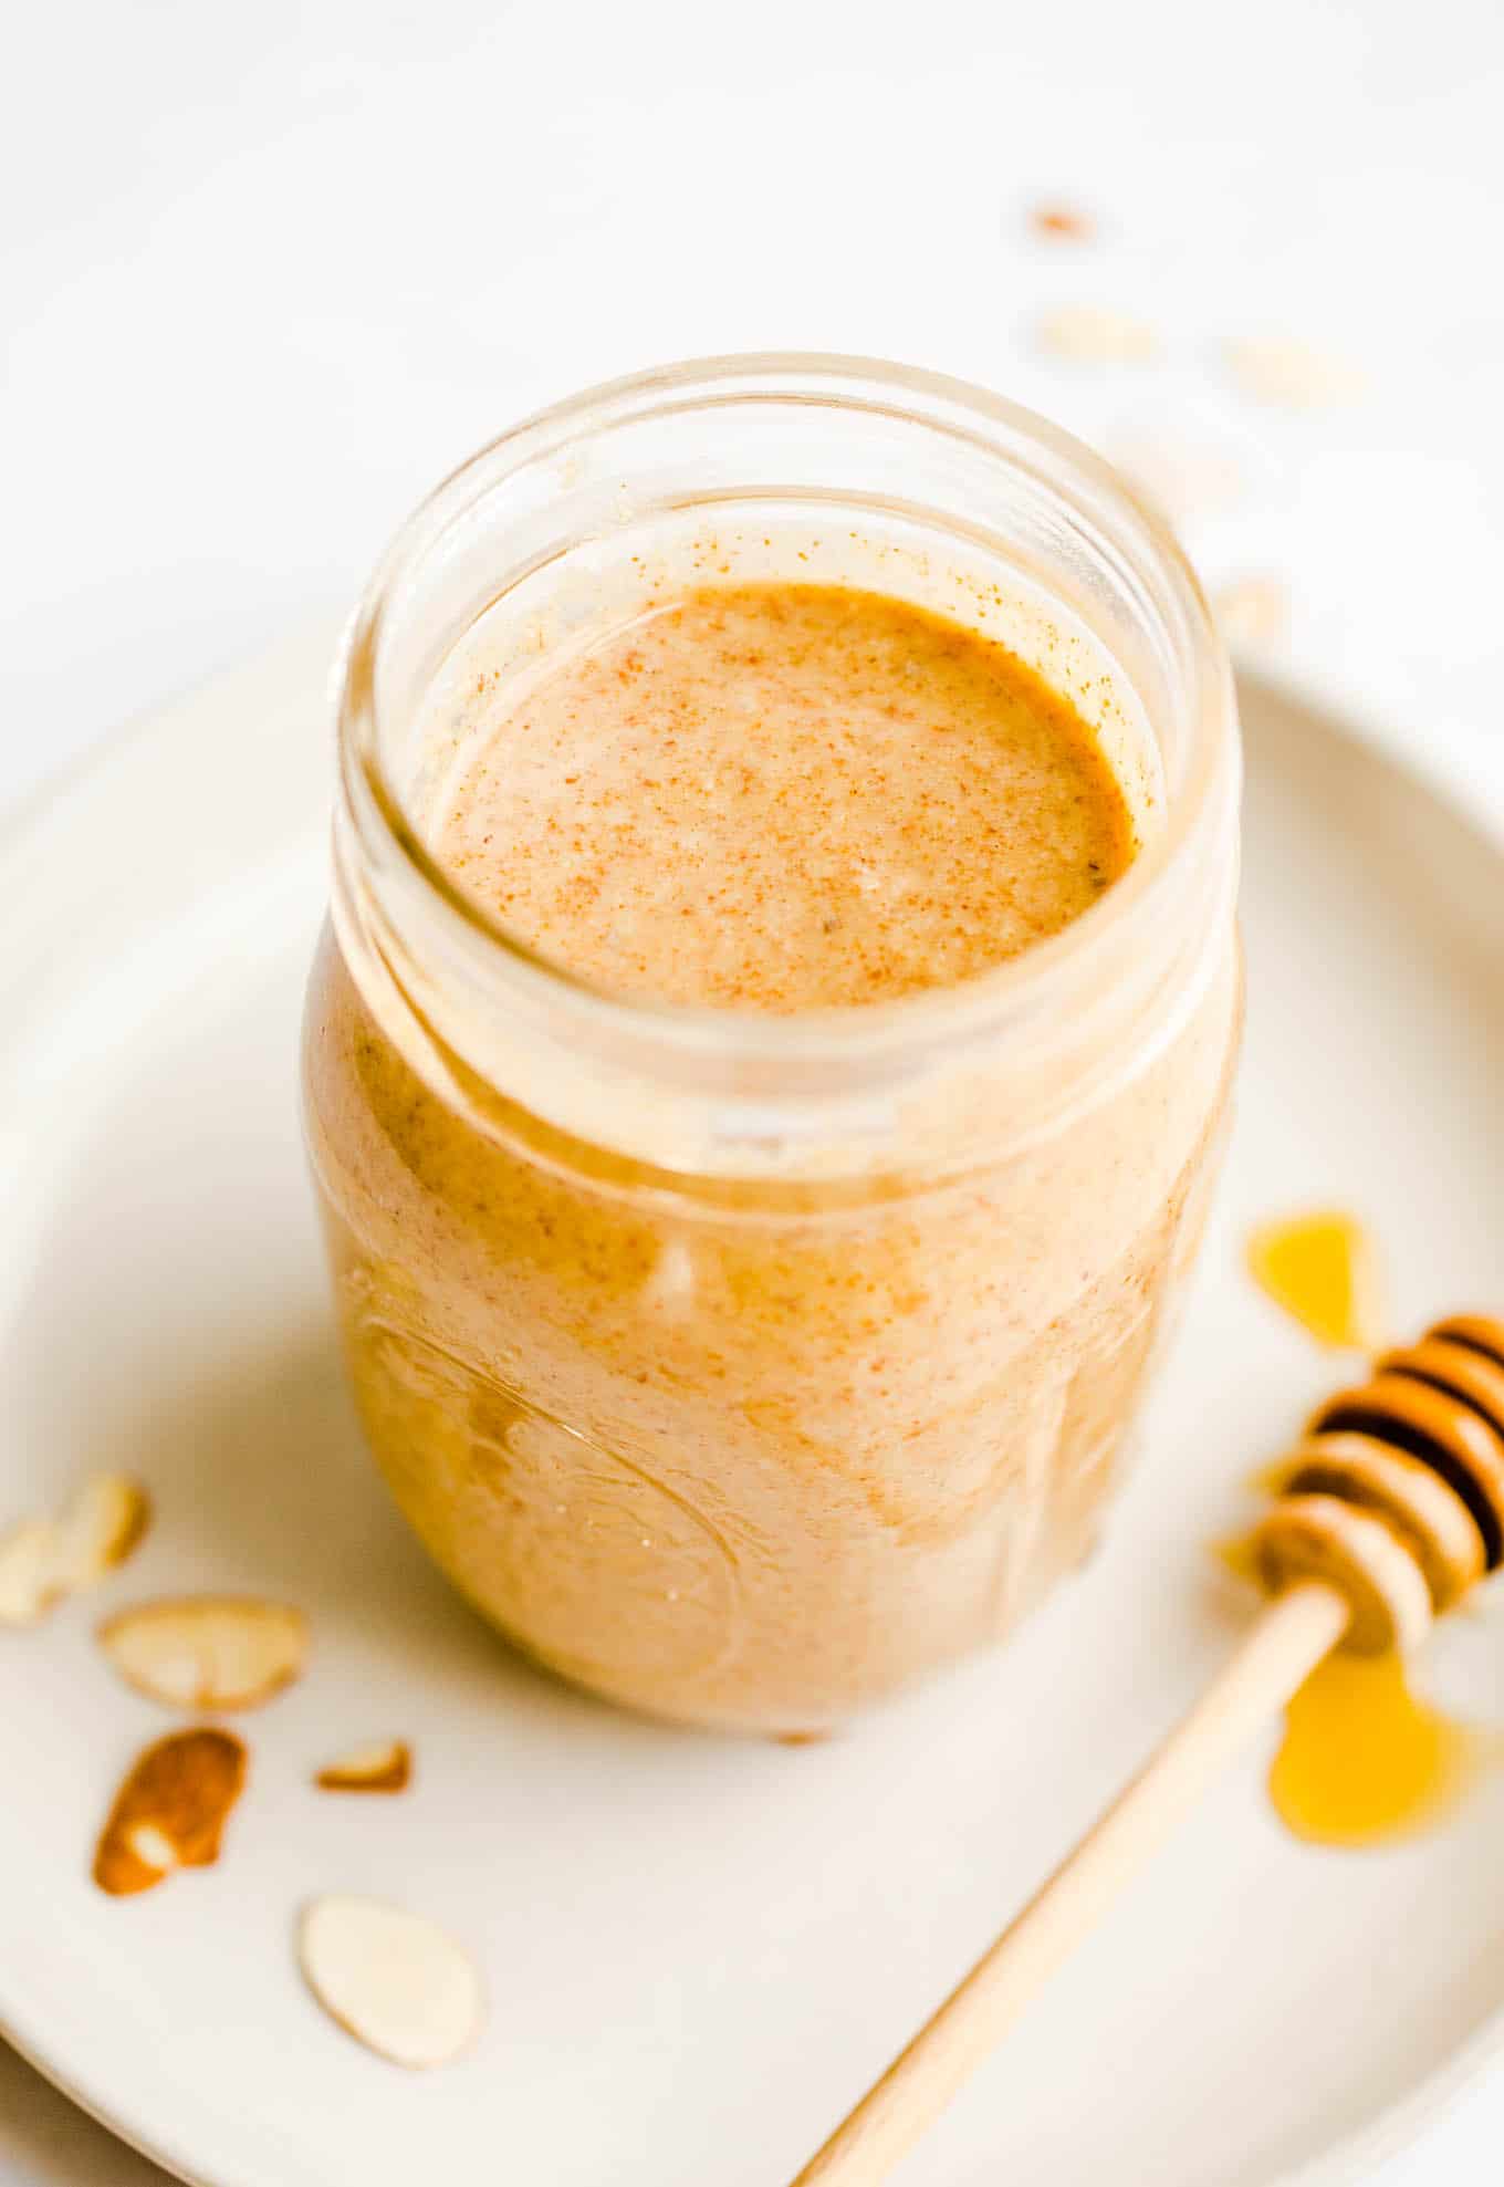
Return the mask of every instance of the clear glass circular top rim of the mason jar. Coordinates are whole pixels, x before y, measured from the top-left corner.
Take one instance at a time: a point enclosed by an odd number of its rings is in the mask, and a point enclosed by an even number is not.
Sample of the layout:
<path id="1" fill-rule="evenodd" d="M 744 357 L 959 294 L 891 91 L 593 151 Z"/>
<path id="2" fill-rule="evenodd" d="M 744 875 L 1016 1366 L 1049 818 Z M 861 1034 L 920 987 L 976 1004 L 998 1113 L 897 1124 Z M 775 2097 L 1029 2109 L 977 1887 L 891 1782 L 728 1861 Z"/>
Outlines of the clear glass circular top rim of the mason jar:
<path id="1" fill-rule="evenodd" d="M 573 971 L 516 936 L 444 870 L 404 811 L 380 752 L 376 669 L 393 597 L 422 555 L 522 464 L 564 455 L 601 431 L 673 411 L 732 402 L 804 402 L 870 411 L 971 442 L 1032 475 L 1080 525 L 1106 534 L 1180 625 L 1178 667 L 1189 685 L 1189 752 L 1165 785 L 1163 827 L 1104 897 L 1060 934 L 971 980 L 890 1002 L 829 1006 L 798 1015 L 739 1013 L 621 993 Z M 505 466 L 505 468 L 503 468 Z M 693 496 L 691 496 L 693 499 Z M 877 490 L 874 490 L 877 499 Z M 686 359 L 588 387 L 509 426 L 448 472 L 400 527 L 356 606 L 337 665 L 339 781 L 356 842 L 367 857 L 396 859 L 404 888 L 422 899 L 450 945 L 481 951 L 498 975 L 571 1010 L 581 1026 L 632 1045 L 654 1041 L 719 1069 L 754 1063 L 881 1065 L 933 1041 L 968 1041 L 1047 1019 L 1071 975 L 1086 975 L 1130 929 L 1167 916 L 1191 862 L 1191 844 L 1215 814 L 1235 811 L 1239 757 L 1226 650 L 1202 588 L 1170 525 L 1084 442 L 1006 396 L 949 374 L 870 356 L 750 352 Z"/>

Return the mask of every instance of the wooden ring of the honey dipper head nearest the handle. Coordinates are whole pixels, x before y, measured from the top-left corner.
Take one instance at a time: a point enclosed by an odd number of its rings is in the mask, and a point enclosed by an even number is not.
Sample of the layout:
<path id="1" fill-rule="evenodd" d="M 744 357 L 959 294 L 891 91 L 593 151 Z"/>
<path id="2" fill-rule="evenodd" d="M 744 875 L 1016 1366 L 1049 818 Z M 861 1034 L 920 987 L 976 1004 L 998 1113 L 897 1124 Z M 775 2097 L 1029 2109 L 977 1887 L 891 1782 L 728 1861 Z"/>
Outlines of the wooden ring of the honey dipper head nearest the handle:
<path id="1" fill-rule="evenodd" d="M 1253 1553 L 1264 1586 L 1279 1594 L 1320 1579 L 1347 1597 L 1353 1621 L 1342 1647 L 1360 1656 L 1417 1647 L 1432 1623 L 1425 1575 L 1384 1524 L 1336 1496 L 1283 1496 L 1255 1527 Z"/>

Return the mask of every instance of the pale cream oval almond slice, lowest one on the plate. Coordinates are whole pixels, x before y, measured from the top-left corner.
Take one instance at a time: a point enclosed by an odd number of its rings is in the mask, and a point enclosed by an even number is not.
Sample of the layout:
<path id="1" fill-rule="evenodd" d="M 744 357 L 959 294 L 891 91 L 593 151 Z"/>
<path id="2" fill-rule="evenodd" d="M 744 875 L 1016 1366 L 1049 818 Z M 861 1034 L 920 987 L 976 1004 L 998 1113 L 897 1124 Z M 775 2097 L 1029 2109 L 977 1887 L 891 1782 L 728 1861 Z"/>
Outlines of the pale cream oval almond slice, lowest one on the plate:
<path id="1" fill-rule="evenodd" d="M 330 2019 L 393 2065 L 446 2065 L 481 2025 L 481 1977 L 470 1955 L 400 1907 L 315 1898 L 304 1909 L 297 1957 Z"/>

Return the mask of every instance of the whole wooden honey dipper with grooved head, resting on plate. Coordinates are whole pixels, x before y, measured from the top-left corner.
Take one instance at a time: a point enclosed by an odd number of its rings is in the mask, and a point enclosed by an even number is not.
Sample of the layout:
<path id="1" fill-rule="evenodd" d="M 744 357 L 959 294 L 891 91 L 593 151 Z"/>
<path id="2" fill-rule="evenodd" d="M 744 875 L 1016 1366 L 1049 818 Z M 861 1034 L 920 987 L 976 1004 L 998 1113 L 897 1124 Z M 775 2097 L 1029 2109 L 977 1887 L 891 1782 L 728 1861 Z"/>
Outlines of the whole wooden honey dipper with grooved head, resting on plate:
<path id="1" fill-rule="evenodd" d="M 835 2128 L 794 2187 L 874 2187 L 1333 1649 L 1414 1649 L 1504 1564 L 1504 1319 L 1454 1314 L 1329 1397 L 1253 1533 L 1272 1601 L 1231 1662 Z"/>

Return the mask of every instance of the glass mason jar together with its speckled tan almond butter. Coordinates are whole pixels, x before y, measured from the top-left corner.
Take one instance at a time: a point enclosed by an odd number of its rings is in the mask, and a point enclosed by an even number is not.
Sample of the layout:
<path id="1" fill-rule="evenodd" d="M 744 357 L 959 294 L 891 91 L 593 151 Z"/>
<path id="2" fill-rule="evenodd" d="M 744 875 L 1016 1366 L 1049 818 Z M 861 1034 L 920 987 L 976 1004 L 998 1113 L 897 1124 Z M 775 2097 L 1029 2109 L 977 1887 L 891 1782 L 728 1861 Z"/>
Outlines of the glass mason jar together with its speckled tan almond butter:
<path id="1" fill-rule="evenodd" d="M 1106 475 L 1056 521 L 1091 459 L 1038 420 L 1030 470 L 953 383 L 700 370 L 398 542 L 304 1091 L 435 1562 L 599 1695 L 787 1736 L 1097 1537 L 1226 1135 L 1237 724 L 1174 545 Z"/>

